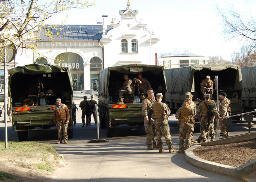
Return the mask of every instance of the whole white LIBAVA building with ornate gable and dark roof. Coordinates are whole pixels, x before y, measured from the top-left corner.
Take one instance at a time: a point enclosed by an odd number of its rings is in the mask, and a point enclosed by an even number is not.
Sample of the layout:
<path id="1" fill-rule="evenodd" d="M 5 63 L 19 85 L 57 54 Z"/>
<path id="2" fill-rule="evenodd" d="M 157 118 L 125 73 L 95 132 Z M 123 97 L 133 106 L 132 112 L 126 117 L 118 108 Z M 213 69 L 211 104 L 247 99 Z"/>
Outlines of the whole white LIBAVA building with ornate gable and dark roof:
<path id="1" fill-rule="evenodd" d="M 127 64 L 156 65 L 154 46 L 159 40 L 137 22 L 138 10 L 120 10 L 120 22 L 104 25 L 48 25 L 38 35 L 37 53 L 18 51 L 16 66 L 32 63 L 69 67 L 74 91 L 90 93 L 92 82 L 103 68 Z M 109 22 L 110 23 L 110 22 Z M 46 32 L 53 33 L 54 41 Z"/>

